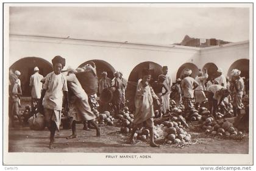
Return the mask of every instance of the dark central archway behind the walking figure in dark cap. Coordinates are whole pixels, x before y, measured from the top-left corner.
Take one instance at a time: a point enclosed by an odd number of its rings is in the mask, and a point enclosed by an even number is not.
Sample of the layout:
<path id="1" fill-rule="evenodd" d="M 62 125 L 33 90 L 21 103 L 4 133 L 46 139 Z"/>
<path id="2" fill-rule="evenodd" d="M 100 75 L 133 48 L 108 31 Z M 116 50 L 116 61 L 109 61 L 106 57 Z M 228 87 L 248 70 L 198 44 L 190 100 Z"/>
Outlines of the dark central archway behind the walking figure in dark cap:
<path id="1" fill-rule="evenodd" d="M 127 106 L 129 107 L 130 111 L 135 110 L 134 99 L 137 88 L 137 82 L 139 79 L 141 79 L 142 70 L 144 68 L 147 68 L 151 71 L 151 82 L 157 80 L 158 75 L 162 74 L 162 66 L 152 61 L 145 61 L 143 63 L 138 64 L 137 66 L 135 66 L 135 68 L 132 69 L 132 72 L 130 72 L 129 75 L 128 85 L 126 89 L 126 99 L 128 102 Z"/>

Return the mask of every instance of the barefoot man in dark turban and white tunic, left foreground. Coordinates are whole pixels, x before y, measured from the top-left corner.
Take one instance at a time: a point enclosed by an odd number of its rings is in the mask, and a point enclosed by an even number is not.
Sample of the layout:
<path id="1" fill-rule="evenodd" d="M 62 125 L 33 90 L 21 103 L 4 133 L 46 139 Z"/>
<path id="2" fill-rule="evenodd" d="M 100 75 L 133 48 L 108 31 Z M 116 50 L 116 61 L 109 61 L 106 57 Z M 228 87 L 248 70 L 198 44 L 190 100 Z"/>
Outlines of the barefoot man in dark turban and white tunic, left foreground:
<path id="1" fill-rule="evenodd" d="M 49 148 L 53 148 L 54 135 L 56 130 L 60 130 L 60 119 L 62 111 L 62 101 L 64 94 L 64 103 L 68 111 L 68 86 L 62 69 L 65 66 L 65 58 L 55 56 L 52 59 L 54 71 L 46 75 L 40 98 L 40 111 L 44 112 L 44 119 L 50 135 Z"/>

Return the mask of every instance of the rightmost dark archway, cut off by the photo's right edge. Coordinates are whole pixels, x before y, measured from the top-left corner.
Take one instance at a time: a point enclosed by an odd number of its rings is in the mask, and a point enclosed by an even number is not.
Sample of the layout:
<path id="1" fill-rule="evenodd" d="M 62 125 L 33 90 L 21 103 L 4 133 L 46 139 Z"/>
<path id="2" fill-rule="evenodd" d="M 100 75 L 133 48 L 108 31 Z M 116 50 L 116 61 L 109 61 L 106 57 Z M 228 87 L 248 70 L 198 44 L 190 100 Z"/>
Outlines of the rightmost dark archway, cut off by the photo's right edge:
<path id="1" fill-rule="evenodd" d="M 250 62 L 249 59 L 241 59 L 236 60 L 229 68 L 229 71 L 227 72 L 227 75 L 230 77 L 232 69 L 239 69 L 241 71 L 240 76 L 245 77 L 244 79 L 244 87 L 245 91 L 249 91 L 249 68 L 250 68 Z"/>

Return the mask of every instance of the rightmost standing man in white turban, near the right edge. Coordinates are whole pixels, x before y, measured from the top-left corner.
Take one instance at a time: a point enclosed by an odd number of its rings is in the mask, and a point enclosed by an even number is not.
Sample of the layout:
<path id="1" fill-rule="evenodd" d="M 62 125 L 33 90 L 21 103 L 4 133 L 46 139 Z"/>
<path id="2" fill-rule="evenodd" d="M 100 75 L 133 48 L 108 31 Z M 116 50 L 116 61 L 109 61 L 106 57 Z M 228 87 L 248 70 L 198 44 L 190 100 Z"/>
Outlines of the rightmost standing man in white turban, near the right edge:
<path id="1" fill-rule="evenodd" d="M 241 116 L 241 109 L 243 108 L 242 98 L 244 91 L 244 80 L 240 77 L 241 71 L 233 69 L 231 71 L 232 76 L 232 97 L 233 97 L 233 113 L 234 116 Z"/>

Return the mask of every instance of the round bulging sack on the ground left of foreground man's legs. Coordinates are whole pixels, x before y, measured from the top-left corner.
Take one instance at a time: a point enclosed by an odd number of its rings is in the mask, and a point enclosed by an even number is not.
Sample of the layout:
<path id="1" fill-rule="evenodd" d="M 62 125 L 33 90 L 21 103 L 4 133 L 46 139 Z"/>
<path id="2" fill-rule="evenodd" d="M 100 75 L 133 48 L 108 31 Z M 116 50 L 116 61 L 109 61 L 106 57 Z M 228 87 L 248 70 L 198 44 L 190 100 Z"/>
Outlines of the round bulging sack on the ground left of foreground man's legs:
<path id="1" fill-rule="evenodd" d="M 31 130 L 44 130 L 45 126 L 43 114 L 37 113 L 29 118 L 29 127 Z"/>

